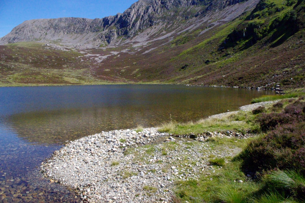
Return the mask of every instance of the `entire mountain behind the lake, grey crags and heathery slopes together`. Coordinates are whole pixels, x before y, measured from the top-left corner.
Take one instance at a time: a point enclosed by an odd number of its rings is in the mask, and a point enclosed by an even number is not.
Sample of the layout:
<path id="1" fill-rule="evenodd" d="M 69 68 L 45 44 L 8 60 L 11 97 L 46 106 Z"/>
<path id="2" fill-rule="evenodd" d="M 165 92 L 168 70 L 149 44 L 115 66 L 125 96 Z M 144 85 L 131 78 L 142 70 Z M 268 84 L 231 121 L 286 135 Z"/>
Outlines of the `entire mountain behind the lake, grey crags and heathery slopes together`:
<path id="1" fill-rule="evenodd" d="M 305 86 L 303 0 L 140 0 L 103 19 L 38 19 L 0 39 L 0 85 Z"/>

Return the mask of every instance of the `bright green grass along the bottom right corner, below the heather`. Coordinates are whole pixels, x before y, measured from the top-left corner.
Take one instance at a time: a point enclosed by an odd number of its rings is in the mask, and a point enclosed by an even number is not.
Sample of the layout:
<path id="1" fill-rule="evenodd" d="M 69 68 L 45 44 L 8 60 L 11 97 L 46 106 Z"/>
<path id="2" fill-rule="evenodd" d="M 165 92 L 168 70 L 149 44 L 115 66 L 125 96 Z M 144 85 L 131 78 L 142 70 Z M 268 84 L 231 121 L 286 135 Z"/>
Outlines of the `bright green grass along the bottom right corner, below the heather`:
<path id="1" fill-rule="evenodd" d="M 304 188 L 304 177 L 294 171 L 273 172 L 263 181 L 251 181 L 240 169 L 241 162 L 226 164 L 217 173 L 199 180 L 178 181 L 176 202 L 226 202 L 226 203 L 301 203 L 294 198 Z M 294 178 L 293 178 L 294 177 Z M 242 183 L 239 183 L 242 180 Z M 296 184 L 298 183 L 298 184 Z"/>

